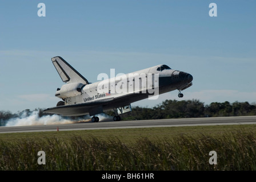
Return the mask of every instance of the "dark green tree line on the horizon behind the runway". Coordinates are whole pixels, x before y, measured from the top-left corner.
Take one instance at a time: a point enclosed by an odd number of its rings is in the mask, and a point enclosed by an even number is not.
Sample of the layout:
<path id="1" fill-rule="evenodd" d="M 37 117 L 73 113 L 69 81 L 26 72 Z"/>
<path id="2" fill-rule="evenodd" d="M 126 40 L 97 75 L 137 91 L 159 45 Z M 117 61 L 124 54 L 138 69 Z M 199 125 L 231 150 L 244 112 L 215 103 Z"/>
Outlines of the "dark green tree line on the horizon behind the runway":
<path id="1" fill-rule="evenodd" d="M 53 115 L 43 113 L 44 109 L 35 109 L 38 117 L 44 115 Z M 132 112 L 122 115 L 122 120 L 142 120 L 142 119 L 168 119 L 168 118 L 201 118 L 201 117 L 230 117 L 256 115 L 256 103 L 249 102 L 211 102 L 205 105 L 199 100 L 165 100 L 161 104 L 152 108 L 135 106 Z M 26 109 L 11 113 L 10 111 L 0 111 L 0 126 L 5 126 L 11 118 L 24 118 L 33 113 Z M 108 111 L 106 114 L 114 115 L 114 111 Z M 74 117 L 71 117 L 71 119 Z"/>

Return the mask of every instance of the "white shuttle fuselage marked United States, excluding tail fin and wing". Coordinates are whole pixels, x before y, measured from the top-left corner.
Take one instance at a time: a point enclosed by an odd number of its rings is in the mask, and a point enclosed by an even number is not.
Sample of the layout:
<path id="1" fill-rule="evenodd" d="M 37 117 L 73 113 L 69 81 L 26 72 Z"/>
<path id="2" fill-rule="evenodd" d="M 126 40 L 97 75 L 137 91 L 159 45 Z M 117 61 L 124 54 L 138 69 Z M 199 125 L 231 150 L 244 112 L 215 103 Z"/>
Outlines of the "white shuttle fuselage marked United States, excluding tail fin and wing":
<path id="1" fill-rule="evenodd" d="M 174 69 L 157 71 L 157 68 L 160 66 L 157 65 L 87 85 L 81 85 L 80 83 L 69 85 L 67 83 L 63 85 L 64 88 L 57 91 L 55 96 L 62 98 L 65 101 L 65 105 L 73 105 L 120 97 L 125 94 L 146 94 L 146 97 L 149 94 L 156 96 L 179 89 L 179 86 L 182 88 L 183 85 L 186 86 L 188 84 L 186 81 L 183 82 L 179 79 L 179 71 L 175 71 Z M 80 88 L 80 92 L 76 88 Z M 143 98 L 145 97 L 138 97 L 138 100 Z"/>

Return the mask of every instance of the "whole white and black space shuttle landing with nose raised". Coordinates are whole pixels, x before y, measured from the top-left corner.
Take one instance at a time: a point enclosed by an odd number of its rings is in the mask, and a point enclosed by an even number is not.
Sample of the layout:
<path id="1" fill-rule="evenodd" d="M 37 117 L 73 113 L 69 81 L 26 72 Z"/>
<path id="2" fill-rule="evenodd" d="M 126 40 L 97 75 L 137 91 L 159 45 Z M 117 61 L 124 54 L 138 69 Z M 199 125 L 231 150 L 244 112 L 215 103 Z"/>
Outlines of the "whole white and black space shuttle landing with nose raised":
<path id="1" fill-rule="evenodd" d="M 65 84 L 55 93 L 61 101 L 43 112 L 63 116 L 89 114 L 92 122 L 99 122 L 97 114 L 108 110 L 114 111 L 114 121 L 120 121 L 120 115 L 131 111 L 131 103 L 157 99 L 159 94 L 173 90 L 183 97 L 181 91 L 189 88 L 193 80 L 189 73 L 161 64 L 90 83 L 62 57 L 51 61 Z"/>

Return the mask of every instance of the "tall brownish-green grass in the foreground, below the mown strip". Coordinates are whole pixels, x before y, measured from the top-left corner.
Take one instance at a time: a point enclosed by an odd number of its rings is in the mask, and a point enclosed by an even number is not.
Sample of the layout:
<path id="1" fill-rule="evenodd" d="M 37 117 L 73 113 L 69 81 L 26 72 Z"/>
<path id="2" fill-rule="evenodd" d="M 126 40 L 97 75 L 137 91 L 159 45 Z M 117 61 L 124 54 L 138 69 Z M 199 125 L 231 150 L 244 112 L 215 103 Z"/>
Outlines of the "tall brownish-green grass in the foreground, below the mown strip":
<path id="1" fill-rule="evenodd" d="M 78 136 L 0 141 L 1 170 L 256 170 L 256 137 L 253 133 L 218 137 L 180 135 L 173 139 L 123 143 L 118 138 L 99 140 Z M 39 165 L 38 151 L 46 164 Z M 210 151 L 217 164 L 210 165 Z"/>

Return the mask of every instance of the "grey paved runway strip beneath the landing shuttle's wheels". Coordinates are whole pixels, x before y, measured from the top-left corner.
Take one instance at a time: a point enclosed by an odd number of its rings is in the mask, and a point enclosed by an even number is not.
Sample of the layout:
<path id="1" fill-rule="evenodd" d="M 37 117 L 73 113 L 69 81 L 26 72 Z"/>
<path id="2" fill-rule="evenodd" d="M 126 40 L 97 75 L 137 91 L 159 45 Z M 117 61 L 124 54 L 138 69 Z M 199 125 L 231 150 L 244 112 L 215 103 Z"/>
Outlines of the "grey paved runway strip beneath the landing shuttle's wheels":
<path id="1" fill-rule="evenodd" d="M 99 129 L 131 129 L 142 127 L 178 127 L 178 126 L 210 126 L 210 125 L 247 125 L 256 124 L 256 116 L 217 117 L 217 118 L 183 118 L 155 119 L 140 121 L 103 121 L 41 126 L 0 127 L 0 133 L 22 133 L 43 131 L 99 130 Z"/>

